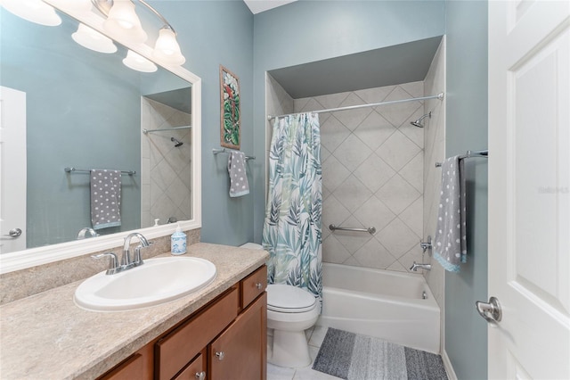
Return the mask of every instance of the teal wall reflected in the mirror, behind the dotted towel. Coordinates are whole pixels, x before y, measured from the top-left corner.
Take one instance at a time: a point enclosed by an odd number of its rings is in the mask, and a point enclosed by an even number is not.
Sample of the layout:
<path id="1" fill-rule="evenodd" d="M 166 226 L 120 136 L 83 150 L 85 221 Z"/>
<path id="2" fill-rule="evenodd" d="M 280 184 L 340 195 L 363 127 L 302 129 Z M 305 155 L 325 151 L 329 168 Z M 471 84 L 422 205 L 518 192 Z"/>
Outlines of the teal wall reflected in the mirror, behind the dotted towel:
<path id="1" fill-rule="evenodd" d="M 63 168 L 141 171 L 140 144 L 128 144 L 140 138 L 141 74 L 74 43 L 75 21 L 45 27 L 4 9 L 0 18 L 0 85 L 26 93 L 27 246 L 69 242 L 91 227 L 89 175 Z M 140 194 L 139 175 L 123 176 L 122 225 L 98 232 L 140 227 Z"/>

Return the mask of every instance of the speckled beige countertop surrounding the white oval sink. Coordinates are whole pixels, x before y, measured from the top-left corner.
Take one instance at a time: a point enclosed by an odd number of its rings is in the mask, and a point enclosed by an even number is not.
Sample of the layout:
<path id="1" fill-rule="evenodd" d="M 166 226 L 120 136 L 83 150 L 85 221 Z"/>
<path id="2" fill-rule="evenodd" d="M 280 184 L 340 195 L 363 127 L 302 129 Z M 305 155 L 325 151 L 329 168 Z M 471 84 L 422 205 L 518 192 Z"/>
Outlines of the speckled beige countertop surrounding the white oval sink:
<path id="1" fill-rule="evenodd" d="M 142 310 L 79 309 L 73 294 L 82 281 L 0 307 L 2 379 L 94 378 L 199 310 L 265 264 L 267 252 L 192 244 L 188 256 L 216 265 L 211 285 L 175 301 Z"/>

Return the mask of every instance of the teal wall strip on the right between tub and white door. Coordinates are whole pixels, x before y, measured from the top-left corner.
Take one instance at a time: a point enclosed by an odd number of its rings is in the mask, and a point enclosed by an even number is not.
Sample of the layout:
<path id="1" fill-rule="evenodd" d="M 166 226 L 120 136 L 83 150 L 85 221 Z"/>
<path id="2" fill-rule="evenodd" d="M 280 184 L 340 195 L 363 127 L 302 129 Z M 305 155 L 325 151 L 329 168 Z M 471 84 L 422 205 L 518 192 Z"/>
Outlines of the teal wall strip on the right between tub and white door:
<path id="1" fill-rule="evenodd" d="M 447 156 L 487 148 L 487 3 L 447 1 Z M 493 152 L 491 152 L 493 154 Z M 445 276 L 445 351 L 460 379 L 487 377 L 487 162 L 465 161 L 468 262 Z"/>

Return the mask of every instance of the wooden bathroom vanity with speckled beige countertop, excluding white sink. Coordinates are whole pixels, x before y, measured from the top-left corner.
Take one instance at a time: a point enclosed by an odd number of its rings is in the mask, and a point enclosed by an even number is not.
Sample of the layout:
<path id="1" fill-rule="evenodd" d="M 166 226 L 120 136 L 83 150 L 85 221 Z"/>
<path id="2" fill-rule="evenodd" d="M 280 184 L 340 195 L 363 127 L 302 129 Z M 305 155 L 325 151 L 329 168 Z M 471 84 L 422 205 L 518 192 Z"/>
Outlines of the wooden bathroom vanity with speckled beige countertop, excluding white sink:
<path id="1" fill-rule="evenodd" d="M 212 261 L 216 279 L 172 302 L 82 310 L 76 282 L 2 306 L 2 377 L 265 379 L 267 252 L 216 244 L 188 251 Z"/>

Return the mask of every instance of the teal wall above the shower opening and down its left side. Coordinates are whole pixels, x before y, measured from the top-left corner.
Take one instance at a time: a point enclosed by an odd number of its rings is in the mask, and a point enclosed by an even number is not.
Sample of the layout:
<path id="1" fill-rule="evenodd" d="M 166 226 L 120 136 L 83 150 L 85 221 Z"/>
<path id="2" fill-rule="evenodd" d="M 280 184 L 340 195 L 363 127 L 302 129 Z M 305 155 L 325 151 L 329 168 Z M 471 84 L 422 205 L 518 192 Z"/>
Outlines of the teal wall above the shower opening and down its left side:
<path id="1" fill-rule="evenodd" d="M 443 36 L 444 14 L 444 1 L 299 1 L 256 14 L 256 156 L 265 156 L 265 71 Z M 254 234 L 258 243 L 265 214 L 262 165 L 254 176 Z"/>

